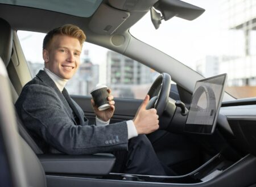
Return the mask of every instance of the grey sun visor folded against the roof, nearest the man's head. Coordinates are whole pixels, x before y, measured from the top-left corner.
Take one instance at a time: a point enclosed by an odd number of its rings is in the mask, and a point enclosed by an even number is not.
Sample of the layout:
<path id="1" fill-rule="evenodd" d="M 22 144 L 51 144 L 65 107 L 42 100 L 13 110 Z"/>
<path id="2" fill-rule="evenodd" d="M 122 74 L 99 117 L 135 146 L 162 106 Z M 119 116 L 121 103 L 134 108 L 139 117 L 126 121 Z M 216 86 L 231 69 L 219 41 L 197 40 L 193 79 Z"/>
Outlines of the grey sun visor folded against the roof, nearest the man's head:
<path id="1" fill-rule="evenodd" d="M 101 4 L 90 20 L 89 28 L 101 35 L 112 35 L 129 16 L 130 12 Z"/>

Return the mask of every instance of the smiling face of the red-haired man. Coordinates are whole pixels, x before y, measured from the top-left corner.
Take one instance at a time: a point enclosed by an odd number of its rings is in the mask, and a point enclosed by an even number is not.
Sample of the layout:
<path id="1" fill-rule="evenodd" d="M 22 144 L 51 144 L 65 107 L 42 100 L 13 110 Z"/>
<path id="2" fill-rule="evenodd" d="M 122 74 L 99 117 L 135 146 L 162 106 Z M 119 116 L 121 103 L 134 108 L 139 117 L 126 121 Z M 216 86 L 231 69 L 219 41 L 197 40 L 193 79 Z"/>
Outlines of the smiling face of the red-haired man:
<path id="1" fill-rule="evenodd" d="M 45 66 L 63 79 L 71 79 L 80 65 L 82 46 L 75 37 L 56 35 L 43 50 Z"/>

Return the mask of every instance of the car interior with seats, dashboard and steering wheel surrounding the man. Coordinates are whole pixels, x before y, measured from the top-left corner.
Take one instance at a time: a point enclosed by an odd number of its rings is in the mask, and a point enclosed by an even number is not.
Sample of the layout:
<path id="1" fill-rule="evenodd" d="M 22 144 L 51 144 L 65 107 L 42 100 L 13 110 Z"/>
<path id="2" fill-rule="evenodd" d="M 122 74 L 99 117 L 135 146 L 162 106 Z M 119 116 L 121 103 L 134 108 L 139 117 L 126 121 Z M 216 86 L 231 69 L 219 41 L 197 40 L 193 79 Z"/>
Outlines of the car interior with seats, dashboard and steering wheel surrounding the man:
<path id="1" fill-rule="evenodd" d="M 56 8 L 60 3 L 56 1 L 53 6 L 51 1 L 41 5 L 0 0 L 1 186 L 256 186 L 256 99 L 234 99 L 222 89 L 210 129 L 199 124 L 195 128 L 187 121 L 192 115 L 189 106 L 196 97 L 195 85 L 208 79 L 129 32 L 149 11 L 157 28 L 161 19 L 173 16 L 196 19 L 203 8 L 179 0 L 81 2 L 88 3 L 84 4 L 88 10 L 69 3 L 64 3 L 63 9 Z M 81 15 L 84 12 L 88 15 Z M 114 50 L 160 73 L 148 91 L 148 108 L 157 109 L 160 128 L 147 137 L 172 175 L 112 173 L 112 154 L 46 154 L 36 145 L 14 108 L 22 87 L 32 79 L 17 31 L 47 33 L 67 23 L 85 31 L 86 42 Z M 72 99 L 94 124 L 91 97 L 72 95 Z M 133 119 L 141 103 L 138 99 L 115 98 L 111 123 Z"/>

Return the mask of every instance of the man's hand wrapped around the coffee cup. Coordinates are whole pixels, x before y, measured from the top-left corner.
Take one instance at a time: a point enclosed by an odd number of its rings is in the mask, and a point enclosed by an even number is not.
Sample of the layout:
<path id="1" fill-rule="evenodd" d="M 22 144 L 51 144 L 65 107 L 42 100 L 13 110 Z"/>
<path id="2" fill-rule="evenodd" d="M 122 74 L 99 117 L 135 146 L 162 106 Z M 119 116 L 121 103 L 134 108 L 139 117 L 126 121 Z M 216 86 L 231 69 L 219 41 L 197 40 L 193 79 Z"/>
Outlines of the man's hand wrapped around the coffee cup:
<path id="1" fill-rule="evenodd" d="M 113 101 L 114 97 L 113 97 L 113 95 L 110 95 L 110 93 L 111 93 L 110 89 L 108 89 L 108 92 L 109 92 L 108 100 L 109 100 L 110 108 L 108 108 L 104 111 L 99 111 L 98 107 L 94 103 L 94 100 L 93 99 L 90 100 L 90 103 L 92 104 L 94 113 L 96 114 L 96 116 L 98 118 L 100 118 L 100 120 L 103 120 L 103 121 L 109 121 L 109 119 L 112 118 L 114 111 L 115 111 L 115 106 L 114 106 L 115 101 Z"/>

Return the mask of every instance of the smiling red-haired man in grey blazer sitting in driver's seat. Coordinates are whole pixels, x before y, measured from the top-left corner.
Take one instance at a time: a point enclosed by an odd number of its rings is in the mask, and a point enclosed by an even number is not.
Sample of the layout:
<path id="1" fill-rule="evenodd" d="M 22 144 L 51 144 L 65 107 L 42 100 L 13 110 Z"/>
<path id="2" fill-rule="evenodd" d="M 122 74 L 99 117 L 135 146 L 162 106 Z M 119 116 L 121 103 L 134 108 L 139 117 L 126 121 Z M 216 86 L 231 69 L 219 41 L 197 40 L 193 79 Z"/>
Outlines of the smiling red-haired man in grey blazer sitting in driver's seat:
<path id="1" fill-rule="evenodd" d="M 68 95 L 64 86 L 79 68 L 84 41 L 84 32 L 75 25 L 47 33 L 45 68 L 23 87 L 15 103 L 19 117 L 44 152 L 112 152 L 117 158 L 113 172 L 165 175 L 144 135 L 159 128 L 156 110 L 146 110 L 148 95 L 133 120 L 116 124 L 109 124 L 115 109 L 113 96 L 108 97 L 111 107 L 105 111 L 98 111 L 92 100 L 96 125 L 88 125 L 84 112 Z"/>

